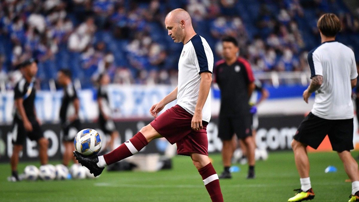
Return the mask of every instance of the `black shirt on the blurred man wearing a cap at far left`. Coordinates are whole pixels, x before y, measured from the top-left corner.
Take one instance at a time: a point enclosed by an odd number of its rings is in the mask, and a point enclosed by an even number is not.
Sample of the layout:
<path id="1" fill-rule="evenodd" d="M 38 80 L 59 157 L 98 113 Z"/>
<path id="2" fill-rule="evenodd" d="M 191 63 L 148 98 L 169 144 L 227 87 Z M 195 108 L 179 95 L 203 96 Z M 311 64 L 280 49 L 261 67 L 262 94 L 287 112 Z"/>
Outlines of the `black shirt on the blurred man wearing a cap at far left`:
<path id="1" fill-rule="evenodd" d="M 34 88 L 34 80 L 30 83 L 26 81 L 25 78 L 20 79 L 16 84 L 14 89 L 14 100 L 19 98 L 23 99 L 23 106 L 25 109 L 25 114 L 29 120 L 35 119 L 34 113 L 34 101 L 36 96 L 36 90 Z M 15 107 L 15 116 L 22 120 L 22 117 L 19 111 Z"/>

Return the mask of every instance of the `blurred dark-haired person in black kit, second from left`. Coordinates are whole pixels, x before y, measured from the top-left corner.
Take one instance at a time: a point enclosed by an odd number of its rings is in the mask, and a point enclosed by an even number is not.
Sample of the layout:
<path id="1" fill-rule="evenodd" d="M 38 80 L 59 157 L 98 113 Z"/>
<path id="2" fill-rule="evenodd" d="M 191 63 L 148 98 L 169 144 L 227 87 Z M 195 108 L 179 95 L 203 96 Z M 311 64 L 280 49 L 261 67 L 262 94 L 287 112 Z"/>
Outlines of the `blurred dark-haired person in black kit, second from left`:
<path id="1" fill-rule="evenodd" d="M 64 95 L 60 107 L 61 136 L 65 147 L 62 164 L 68 166 L 71 159 L 74 163 L 77 163 L 72 151 L 75 150 L 74 138 L 81 130 L 81 122 L 79 119 L 80 101 L 74 84 L 71 81 L 70 70 L 61 69 L 57 73 L 57 81 L 64 87 Z"/>

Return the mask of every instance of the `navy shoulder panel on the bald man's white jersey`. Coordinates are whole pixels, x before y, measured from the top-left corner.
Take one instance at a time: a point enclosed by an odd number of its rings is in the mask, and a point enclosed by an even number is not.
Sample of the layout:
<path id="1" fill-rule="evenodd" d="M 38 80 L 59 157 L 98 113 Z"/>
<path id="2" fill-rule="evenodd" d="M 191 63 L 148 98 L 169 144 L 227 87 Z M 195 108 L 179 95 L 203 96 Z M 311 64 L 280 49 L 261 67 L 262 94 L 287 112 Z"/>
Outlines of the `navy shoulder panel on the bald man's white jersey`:
<path id="1" fill-rule="evenodd" d="M 206 52 L 204 51 L 204 46 L 203 46 L 201 37 L 199 35 L 195 35 L 194 37 L 192 37 L 191 42 L 195 49 L 198 64 L 200 66 L 199 74 L 201 74 L 202 72 L 212 73 L 208 69 L 208 60 L 207 60 Z"/>

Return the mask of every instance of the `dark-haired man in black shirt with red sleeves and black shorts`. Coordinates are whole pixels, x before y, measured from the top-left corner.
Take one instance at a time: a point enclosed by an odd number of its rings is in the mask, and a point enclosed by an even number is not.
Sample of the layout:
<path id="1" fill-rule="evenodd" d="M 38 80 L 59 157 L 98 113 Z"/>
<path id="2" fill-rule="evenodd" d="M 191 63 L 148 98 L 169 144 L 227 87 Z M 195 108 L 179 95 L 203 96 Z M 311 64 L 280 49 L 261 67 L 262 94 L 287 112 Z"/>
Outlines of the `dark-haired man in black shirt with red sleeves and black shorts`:
<path id="1" fill-rule="evenodd" d="M 232 178 L 229 168 L 233 152 L 233 136 L 242 139 L 248 157 L 248 179 L 255 178 L 255 141 L 252 138 L 252 115 L 249 98 L 252 95 L 254 76 L 247 60 L 238 57 L 238 42 L 233 37 L 222 39 L 223 58 L 216 63 L 215 82 L 221 90 L 218 137 L 222 139 L 224 171 L 220 178 Z"/>

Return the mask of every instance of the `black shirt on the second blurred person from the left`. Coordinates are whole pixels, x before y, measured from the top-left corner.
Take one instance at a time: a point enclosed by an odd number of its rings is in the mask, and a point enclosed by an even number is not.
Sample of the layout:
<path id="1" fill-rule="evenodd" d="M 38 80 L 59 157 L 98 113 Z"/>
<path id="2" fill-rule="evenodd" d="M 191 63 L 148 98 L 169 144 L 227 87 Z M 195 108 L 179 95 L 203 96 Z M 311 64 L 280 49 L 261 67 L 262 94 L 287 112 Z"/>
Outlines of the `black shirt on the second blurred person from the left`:
<path id="1" fill-rule="evenodd" d="M 66 120 L 75 114 L 74 100 L 77 99 L 77 92 L 72 83 L 64 88 L 64 97 L 62 97 L 62 103 L 60 108 L 60 120 L 61 123 L 65 123 Z"/>

